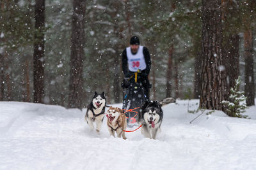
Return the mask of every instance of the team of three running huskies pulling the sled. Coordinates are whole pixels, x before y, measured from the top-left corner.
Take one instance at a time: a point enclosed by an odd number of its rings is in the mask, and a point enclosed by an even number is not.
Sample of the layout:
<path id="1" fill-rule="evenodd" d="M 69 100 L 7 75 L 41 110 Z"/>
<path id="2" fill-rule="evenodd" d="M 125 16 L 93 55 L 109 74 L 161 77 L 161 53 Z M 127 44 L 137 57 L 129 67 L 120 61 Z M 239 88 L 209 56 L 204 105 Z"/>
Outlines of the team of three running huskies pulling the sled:
<path id="1" fill-rule="evenodd" d="M 93 122 L 96 124 L 96 131 L 99 133 L 104 120 L 106 108 L 106 97 L 104 92 L 98 94 L 95 92 L 91 103 L 87 106 L 85 120 L 93 131 Z M 125 137 L 127 128 L 127 118 L 124 111 L 120 108 L 109 107 L 106 117 L 108 118 L 108 131 L 111 136 L 118 138 Z M 146 138 L 156 139 L 157 133 L 161 131 L 160 127 L 163 121 L 163 110 L 161 104 L 157 101 L 145 101 L 138 112 L 138 122 L 141 124 L 141 133 Z"/>

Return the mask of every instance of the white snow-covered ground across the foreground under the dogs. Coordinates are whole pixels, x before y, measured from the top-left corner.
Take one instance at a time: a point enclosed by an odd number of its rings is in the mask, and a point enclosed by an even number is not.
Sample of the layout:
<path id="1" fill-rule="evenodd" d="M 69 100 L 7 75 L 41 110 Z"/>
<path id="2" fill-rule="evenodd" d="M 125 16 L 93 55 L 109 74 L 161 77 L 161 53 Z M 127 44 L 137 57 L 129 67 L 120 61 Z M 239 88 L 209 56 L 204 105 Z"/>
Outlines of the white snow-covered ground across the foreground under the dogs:
<path id="1" fill-rule="evenodd" d="M 109 137 L 106 119 L 99 135 L 90 132 L 85 110 L 1 102 L 0 169 L 256 169 L 256 107 L 252 119 L 216 111 L 192 124 L 200 113 L 187 109 L 188 101 L 164 106 L 156 140 L 140 131 L 124 140 Z"/>

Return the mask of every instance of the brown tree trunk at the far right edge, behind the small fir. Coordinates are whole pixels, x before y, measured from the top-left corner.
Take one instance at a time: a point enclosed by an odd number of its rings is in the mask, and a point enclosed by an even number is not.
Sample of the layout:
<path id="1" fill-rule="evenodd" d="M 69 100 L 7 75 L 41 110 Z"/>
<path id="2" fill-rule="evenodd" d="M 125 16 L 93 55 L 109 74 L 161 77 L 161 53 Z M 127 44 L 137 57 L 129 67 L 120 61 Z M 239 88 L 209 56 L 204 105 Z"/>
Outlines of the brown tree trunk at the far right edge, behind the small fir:
<path id="1" fill-rule="evenodd" d="M 252 30 L 246 29 L 244 32 L 244 61 L 245 61 L 245 85 L 244 93 L 247 97 L 246 105 L 255 105 L 255 87 L 254 87 L 254 73 L 253 73 L 253 43 Z"/>

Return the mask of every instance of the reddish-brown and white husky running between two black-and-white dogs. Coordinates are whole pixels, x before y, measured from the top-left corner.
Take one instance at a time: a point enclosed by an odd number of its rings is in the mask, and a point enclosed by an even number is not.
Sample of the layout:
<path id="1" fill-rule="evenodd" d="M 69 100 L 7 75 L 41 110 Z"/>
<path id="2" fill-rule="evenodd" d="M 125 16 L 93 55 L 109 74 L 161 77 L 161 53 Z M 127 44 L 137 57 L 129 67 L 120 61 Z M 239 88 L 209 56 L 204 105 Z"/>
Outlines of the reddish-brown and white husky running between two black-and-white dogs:
<path id="1" fill-rule="evenodd" d="M 126 139 L 124 130 L 127 127 L 127 121 L 124 111 L 120 108 L 113 108 L 110 106 L 107 111 L 107 118 L 110 135 L 115 137 L 116 132 L 118 138 L 121 138 L 122 135 L 123 138 Z"/>

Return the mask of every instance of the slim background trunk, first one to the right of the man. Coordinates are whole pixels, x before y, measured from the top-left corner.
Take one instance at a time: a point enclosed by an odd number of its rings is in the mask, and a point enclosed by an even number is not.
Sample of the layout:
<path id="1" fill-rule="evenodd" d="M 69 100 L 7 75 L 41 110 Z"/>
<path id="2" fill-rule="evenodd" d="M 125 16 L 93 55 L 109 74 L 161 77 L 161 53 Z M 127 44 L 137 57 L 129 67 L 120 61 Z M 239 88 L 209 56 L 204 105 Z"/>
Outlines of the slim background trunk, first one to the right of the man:
<path id="1" fill-rule="evenodd" d="M 172 96 L 172 55 L 173 45 L 169 48 L 168 66 L 166 72 L 166 98 Z"/>

